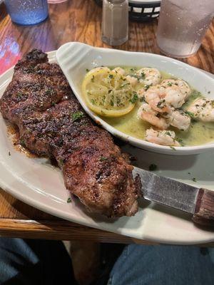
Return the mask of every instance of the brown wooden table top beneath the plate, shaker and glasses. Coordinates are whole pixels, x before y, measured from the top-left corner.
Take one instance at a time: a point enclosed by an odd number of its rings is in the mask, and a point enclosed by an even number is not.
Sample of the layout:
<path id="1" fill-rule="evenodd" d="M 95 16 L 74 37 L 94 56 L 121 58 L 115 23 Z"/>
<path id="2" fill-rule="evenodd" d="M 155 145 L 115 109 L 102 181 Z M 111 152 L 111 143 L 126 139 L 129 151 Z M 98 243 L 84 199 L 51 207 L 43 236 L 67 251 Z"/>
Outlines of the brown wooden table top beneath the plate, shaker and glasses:
<path id="1" fill-rule="evenodd" d="M 157 20 L 130 22 L 129 40 L 120 49 L 160 53 L 156 46 Z M 68 41 L 108 47 L 101 41 L 101 8 L 93 0 L 66 1 L 49 5 L 49 19 L 36 26 L 11 22 L 0 5 L 0 74 L 31 48 L 53 51 Z M 214 21 L 198 53 L 181 59 L 191 66 L 214 73 Z M 83 227 L 41 212 L 0 190 L 0 235 L 36 239 L 87 239 L 96 242 L 141 242 L 119 234 Z"/>

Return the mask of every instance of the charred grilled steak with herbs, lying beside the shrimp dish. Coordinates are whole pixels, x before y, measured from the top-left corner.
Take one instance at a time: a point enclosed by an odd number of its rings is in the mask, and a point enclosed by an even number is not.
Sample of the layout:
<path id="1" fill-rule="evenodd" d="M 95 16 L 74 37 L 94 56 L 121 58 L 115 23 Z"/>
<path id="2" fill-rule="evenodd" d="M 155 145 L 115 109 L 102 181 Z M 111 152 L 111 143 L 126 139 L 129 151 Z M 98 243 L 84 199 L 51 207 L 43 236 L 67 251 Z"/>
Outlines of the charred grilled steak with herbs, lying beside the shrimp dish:
<path id="1" fill-rule="evenodd" d="M 16 64 L 0 100 L 1 113 L 19 128 L 21 145 L 54 157 L 66 188 L 91 212 L 108 217 L 138 210 L 138 181 L 106 130 L 83 112 L 66 78 L 46 53 L 33 50 Z"/>

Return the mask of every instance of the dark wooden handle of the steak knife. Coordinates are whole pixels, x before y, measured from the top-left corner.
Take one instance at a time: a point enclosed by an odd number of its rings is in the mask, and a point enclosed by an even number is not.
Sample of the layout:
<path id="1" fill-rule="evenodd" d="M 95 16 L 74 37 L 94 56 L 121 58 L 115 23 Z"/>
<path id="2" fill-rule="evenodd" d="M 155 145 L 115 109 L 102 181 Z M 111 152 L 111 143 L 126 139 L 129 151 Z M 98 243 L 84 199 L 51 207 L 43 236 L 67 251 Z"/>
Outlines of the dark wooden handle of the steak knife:
<path id="1" fill-rule="evenodd" d="M 193 222 L 214 227 L 214 191 L 200 188 Z"/>

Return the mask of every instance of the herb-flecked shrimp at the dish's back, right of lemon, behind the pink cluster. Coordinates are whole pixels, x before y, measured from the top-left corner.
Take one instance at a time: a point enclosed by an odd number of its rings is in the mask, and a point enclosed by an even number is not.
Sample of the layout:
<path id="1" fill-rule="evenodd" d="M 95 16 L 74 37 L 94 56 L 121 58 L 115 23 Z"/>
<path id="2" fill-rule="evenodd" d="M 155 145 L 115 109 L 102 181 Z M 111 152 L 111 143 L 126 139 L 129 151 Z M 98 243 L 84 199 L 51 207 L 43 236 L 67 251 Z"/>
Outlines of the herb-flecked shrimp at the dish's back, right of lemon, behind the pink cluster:
<path id="1" fill-rule="evenodd" d="M 156 68 L 141 68 L 136 72 L 140 83 L 146 86 L 155 86 L 161 82 L 161 73 Z"/>

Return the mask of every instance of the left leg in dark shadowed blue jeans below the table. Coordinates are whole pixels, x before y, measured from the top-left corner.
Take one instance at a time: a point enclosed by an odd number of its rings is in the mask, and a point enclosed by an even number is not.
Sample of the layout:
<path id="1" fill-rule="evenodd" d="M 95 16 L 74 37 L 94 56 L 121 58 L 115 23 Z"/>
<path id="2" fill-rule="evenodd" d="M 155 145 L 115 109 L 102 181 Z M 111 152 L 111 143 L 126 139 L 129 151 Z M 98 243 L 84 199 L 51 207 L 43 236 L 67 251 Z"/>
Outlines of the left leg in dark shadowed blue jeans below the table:
<path id="1" fill-rule="evenodd" d="M 62 242 L 0 238 L 0 284 L 76 284 Z"/>

